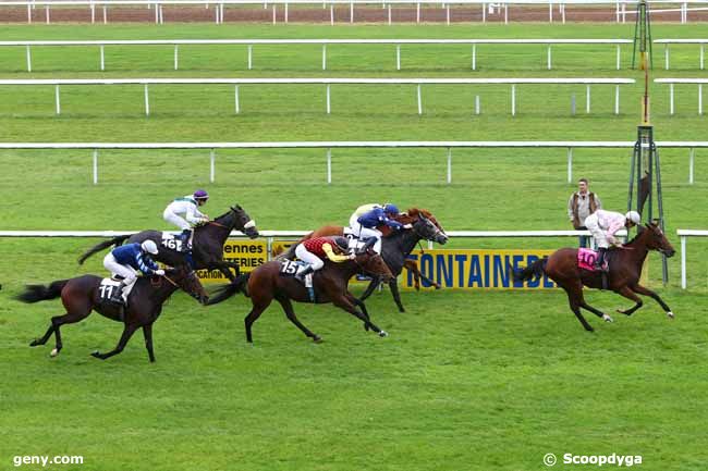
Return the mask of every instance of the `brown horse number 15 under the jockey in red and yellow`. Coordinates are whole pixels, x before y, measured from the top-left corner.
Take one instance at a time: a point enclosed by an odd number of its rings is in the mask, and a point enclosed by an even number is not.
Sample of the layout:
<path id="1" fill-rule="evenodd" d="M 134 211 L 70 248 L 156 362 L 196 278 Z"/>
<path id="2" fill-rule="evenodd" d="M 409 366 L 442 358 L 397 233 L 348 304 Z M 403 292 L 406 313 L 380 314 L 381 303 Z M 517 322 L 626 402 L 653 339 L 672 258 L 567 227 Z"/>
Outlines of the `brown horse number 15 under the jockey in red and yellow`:
<path id="1" fill-rule="evenodd" d="M 253 343 L 251 327 L 260 314 L 270 306 L 273 299 L 278 300 L 285 311 L 288 319 L 314 342 L 321 342 L 319 335 L 310 332 L 303 325 L 293 309 L 291 300 L 297 302 L 312 302 L 307 288 L 292 276 L 280 273 L 280 261 L 267 262 L 251 273 L 236 277 L 235 282 L 217 290 L 208 305 L 216 305 L 239 292 L 251 298 L 253 308 L 245 318 L 246 340 Z M 349 292 L 350 278 L 356 273 L 366 273 L 391 280 L 393 275 L 378 253 L 371 250 L 359 252 L 354 260 L 342 263 L 326 262 L 325 267 L 313 275 L 315 302 L 332 302 L 338 308 L 350 312 L 364 322 L 366 330 L 371 329 L 379 336 L 386 337 L 388 333 L 374 325 L 363 301 L 359 301 Z M 361 308 L 361 311 L 357 309 Z"/>

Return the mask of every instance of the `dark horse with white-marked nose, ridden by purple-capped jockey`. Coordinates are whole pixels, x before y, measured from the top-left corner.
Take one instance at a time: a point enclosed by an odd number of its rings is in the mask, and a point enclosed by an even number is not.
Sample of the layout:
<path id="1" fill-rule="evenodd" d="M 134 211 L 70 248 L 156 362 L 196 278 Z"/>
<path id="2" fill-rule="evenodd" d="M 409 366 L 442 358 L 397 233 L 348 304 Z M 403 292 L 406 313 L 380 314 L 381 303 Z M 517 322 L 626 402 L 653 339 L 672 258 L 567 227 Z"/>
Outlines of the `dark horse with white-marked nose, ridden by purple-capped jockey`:
<path id="1" fill-rule="evenodd" d="M 234 228 L 243 232 L 252 239 L 258 237 L 256 223 L 239 204 L 231 207 L 227 213 L 213 221 L 195 227 L 190 261 L 193 268 L 195 270 L 219 270 L 225 277 L 233 281 L 235 276 L 229 269 L 234 269 L 236 275 L 239 275 L 239 263 L 223 260 L 223 244 Z M 160 247 L 159 253 L 155 257 L 157 261 L 170 267 L 176 267 L 187 262 L 186 253 L 164 248 L 162 245 L 162 233 L 160 231 L 143 231 L 133 235 L 113 237 L 91 247 L 81 256 L 78 264 L 83 264 L 87 258 L 110 246 L 120 246 L 123 241 L 127 241 L 129 244 L 142 243 L 147 239 L 155 241 Z"/>

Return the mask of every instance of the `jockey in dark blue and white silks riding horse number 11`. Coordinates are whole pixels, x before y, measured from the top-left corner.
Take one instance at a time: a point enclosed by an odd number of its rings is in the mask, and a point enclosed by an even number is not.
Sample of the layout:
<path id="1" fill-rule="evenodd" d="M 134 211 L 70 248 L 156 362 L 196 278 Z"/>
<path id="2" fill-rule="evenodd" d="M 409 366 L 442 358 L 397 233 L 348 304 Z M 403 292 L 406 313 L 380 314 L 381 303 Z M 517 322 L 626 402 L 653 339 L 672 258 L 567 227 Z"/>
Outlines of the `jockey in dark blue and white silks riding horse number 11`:
<path id="1" fill-rule="evenodd" d="M 132 286 L 137 280 L 137 271 L 139 270 L 146 275 L 160 275 L 164 274 L 164 270 L 152 261 L 149 253 L 157 255 L 157 244 L 152 240 L 145 240 L 143 244 L 126 244 L 111 250 L 106 258 L 103 258 L 103 267 L 111 273 L 115 273 L 123 277 L 121 284 L 111 295 L 111 301 L 125 306 L 125 301 L 121 296 L 123 288 Z"/>

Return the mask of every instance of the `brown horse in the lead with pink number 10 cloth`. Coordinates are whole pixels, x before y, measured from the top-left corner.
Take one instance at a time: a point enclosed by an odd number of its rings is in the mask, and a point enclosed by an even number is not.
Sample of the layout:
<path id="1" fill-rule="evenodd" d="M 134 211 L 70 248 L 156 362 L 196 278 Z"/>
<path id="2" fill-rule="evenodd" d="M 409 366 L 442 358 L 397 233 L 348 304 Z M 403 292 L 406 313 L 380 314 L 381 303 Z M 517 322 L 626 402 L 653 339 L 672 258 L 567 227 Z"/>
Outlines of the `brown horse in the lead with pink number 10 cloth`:
<path id="1" fill-rule="evenodd" d="M 637 296 L 639 294 L 655 299 L 663 308 L 667 315 L 673 319 L 673 312 L 671 312 L 669 306 L 663 302 L 659 295 L 639 284 L 642 265 L 649 250 L 657 250 L 667 257 L 673 257 L 675 253 L 675 250 L 669 240 L 667 240 L 663 232 L 655 222 L 646 224 L 646 228 L 627 244 L 608 252 L 608 258 L 610 259 L 610 271 L 607 275 L 608 289 L 635 302 L 630 309 L 618 309 L 618 312 L 622 314 L 632 315 L 634 311 L 642 307 L 643 301 Z M 548 258 L 538 260 L 525 269 L 513 271 L 514 281 L 516 282 L 532 280 L 541 276 L 544 273 L 565 289 L 571 310 L 575 313 L 575 317 L 586 331 L 593 332 L 593 327 L 581 313 L 581 308 L 593 312 L 606 322 L 613 322 L 611 317 L 585 302 L 583 285 L 601 289 L 602 274 L 601 272 L 590 272 L 581 269 L 577 265 L 577 249 L 559 249 Z"/>

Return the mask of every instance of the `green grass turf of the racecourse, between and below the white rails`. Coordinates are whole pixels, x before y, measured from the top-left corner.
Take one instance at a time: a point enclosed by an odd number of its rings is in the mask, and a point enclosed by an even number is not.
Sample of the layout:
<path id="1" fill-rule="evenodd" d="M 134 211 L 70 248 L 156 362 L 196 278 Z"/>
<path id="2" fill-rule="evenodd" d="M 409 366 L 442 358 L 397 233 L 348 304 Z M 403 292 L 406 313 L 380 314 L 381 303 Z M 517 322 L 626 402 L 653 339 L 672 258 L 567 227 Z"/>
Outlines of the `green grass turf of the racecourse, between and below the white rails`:
<path id="1" fill-rule="evenodd" d="M 654 25 L 654 37 L 705 36 L 705 24 Z M 622 37 L 630 25 L 64 25 L 2 26 L 3 39 L 206 37 Z M 335 50 L 337 49 L 337 50 Z M 108 51 L 108 49 L 107 49 Z M 545 47 L 485 48 L 480 71 L 468 67 L 467 48 L 412 47 L 403 71 L 393 47 L 329 48 L 331 70 L 319 70 L 317 47 L 256 49 L 245 71 L 245 48 L 171 48 L 110 52 L 109 71 L 95 72 L 97 51 L 37 49 L 35 72 L 22 72 L 24 50 L 0 50 L 0 75 L 11 77 L 138 76 L 596 76 L 634 77 L 631 50 L 614 71 L 614 49 L 556 48 L 546 71 Z M 589 52 L 588 52 L 589 51 Z M 584 53 L 585 52 L 585 53 Z M 672 49 L 672 67 L 655 76 L 705 76 L 697 50 Z M 483 54 L 481 49 L 479 50 Z M 114 54 L 114 55 L 113 55 Z M 230 65 L 228 65 L 230 64 Z M 235 65 L 234 65 L 235 64 Z M 475 74 L 475 75 L 471 75 Z M 245 87 L 244 87 L 245 88 Z M 613 88 L 522 88 L 520 113 L 509 114 L 506 87 L 426 87 L 426 113 L 415 110 L 413 87 L 333 89 L 324 112 L 324 87 L 248 87 L 243 113 L 232 114 L 229 87 L 157 87 L 149 117 L 139 87 L 0 88 L 1 141 L 265 141 L 265 140 L 633 140 L 640 86 L 622 95 L 612 114 Z M 624 89 L 623 89 L 624 90 Z M 483 114 L 473 115 L 483 94 Z M 570 115 L 570 96 L 578 114 Z M 658 140 L 705 140 L 694 87 L 676 88 L 669 115 L 668 88 L 652 86 Z M 245 98 L 247 97 L 247 98 Z M 338 101 L 340 100 L 340 101 Z M 687 151 L 662 150 L 669 238 L 676 228 L 706 228 L 707 151 L 696 152 L 696 183 L 687 184 Z M 586 176 L 606 208 L 626 206 L 628 150 L 576 150 L 574 177 Z M 241 203 L 261 230 L 306 230 L 344 223 L 368 201 L 430 209 L 445 230 L 570 228 L 565 151 L 460 150 L 453 183 L 444 184 L 444 150 L 337 150 L 333 184 L 325 184 L 318 150 L 221 151 L 208 183 L 208 152 L 106 151 L 99 185 L 90 183 L 89 151 L 0 152 L 3 230 L 168 228 L 160 215 L 173 197 L 204 186 L 211 216 Z M 548 453 L 640 455 L 640 470 L 703 471 L 708 454 L 708 243 L 689 239 L 688 289 L 679 285 L 679 257 L 661 286 L 660 259 L 649 260 L 650 286 L 676 314 L 667 320 L 646 299 L 632 318 L 606 324 L 587 314 L 583 331 L 561 292 L 404 292 L 406 313 L 389 293 L 367 301 L 373 320 L 391 336 L 365 333 L 331 306 L 296 305 L 301 321 L 325 343 L 314 345 L 271 306 L 244 336 L 249 302 L 236 297 L 203 308 L 182 293 L 155 324 L 157 362 L 148 363 L 142 334 L 123 354 L 112 348 L 121 326 L 98 314 L 62 327 L 64 349 L 29 348 L 58 301 L 12 299 L 26 283 L 103 273 L 101 256 L 76 264 L 95 239 L 0 241 L 0 470 L 13 457 L 81 455 L 83 466 L 58 470 L 508 470 L 546 469 Z M 466 248 L 554 248 L 574 239 L 452 240 Z M 356 288 L 361 292 L 361 288 Z M 588 292 L 588 301 L 613 314 L 630 301 Z M 614 469 L 607 464 L 607 468 Z M 30 466 L 24 468 L 35 469 Z M 36 467 L 36 469 L 40 469 Z M 597 469 L 562 463 L 553 469 Z"/>

